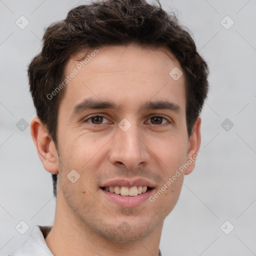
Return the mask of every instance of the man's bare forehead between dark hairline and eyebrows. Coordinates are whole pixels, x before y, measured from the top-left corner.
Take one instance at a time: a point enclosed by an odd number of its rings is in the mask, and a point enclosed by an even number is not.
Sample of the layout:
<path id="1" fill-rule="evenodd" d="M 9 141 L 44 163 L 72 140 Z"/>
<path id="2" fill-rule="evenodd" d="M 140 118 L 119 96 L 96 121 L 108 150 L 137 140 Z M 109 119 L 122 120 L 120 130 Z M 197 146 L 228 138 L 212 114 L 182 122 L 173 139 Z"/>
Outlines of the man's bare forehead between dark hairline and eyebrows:
<path id="1" fill-rule="evenodd" d="M 181 71 L 181 67 L 167 48 L 129 44 L 104 46 L 84 54 L 80 52 L 66 63 L 65 75 L 75 75 L 68 81 L 60 102 L 64 101 L 65 110 L 85 98 L 111 100 L 134 108 L 150 99 L 184 106 L 183 76 L 175 80 L 170 75 L 173 68 Z M 83 60 L 77 60 L 82 56 Z"/>

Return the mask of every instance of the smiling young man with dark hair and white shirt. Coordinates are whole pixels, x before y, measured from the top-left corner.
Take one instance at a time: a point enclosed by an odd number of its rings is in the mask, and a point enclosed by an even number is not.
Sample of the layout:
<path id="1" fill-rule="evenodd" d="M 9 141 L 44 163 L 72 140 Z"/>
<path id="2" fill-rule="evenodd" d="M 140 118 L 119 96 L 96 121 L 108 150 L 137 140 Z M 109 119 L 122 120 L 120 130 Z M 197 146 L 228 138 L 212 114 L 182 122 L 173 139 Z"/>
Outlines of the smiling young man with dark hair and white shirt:
<path id="1" fill-rule="evenodd" d="M 161 255 L 163 220 L 200 153 L 207 75 L 160 4 L 97 1 L 50 25 L 28 76 L 55 218 L 12 255 Z"/>

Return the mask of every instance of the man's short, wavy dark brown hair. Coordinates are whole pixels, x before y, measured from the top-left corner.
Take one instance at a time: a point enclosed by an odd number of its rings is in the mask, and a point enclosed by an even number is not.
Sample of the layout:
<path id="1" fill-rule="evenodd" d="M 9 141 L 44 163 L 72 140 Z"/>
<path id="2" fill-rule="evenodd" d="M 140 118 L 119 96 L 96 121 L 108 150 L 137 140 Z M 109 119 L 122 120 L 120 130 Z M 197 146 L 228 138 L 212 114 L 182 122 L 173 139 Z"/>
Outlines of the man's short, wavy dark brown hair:
<path id="1" fill-rule="evenodd" d="M 186 126 L 191 135 L 208 91 L 208 66 L 196 51 L 187 28 L 176 16 L 146 0 L 97 0 L 71 9 L 64 20 L 52 23 L 43 35 L 42 50 L 28 66 L 30 92 L 36 114 L 45 124 L 57 148 L 58 106 L 63 87 L 54 97 L 47 94 L 64 77 L 67 60 L 84 50 L 105 45 L 135 43 L 152 48 L 167 47 L 176 57 L 185 78 Z M 52 174 L 56 195 L 57 174 Z"/>

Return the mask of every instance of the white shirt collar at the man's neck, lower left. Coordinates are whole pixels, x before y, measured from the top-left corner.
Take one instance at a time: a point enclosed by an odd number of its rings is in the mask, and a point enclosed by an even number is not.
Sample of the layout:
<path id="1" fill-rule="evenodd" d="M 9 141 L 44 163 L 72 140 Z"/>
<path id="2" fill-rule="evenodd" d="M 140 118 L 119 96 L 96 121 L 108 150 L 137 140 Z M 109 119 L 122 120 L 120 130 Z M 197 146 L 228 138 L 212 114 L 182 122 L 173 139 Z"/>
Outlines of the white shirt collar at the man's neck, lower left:
<path id="1" fill-rule="evenodd" d="M 44 240 L 51 227 L 52 226 L 34 226 L 32 232 L 18 250 L 8 256 L 53 256 Z M 162 256 L 160 249 L 158 256 Z"/>

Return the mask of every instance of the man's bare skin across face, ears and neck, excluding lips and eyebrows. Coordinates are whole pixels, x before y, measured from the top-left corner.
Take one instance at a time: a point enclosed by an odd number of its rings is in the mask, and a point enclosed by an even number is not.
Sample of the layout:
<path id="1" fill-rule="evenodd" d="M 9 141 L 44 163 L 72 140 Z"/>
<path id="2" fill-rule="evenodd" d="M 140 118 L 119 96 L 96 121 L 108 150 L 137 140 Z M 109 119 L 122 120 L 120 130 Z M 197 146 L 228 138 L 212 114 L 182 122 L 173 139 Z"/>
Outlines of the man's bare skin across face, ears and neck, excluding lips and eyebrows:
<path id="1" fill-rule="evenodd" d="M 73 252 L 156 256 L 163 219 L 176 204 L 183 176 L 193 170 L 194 161 L 154 202 L 146 200 L 135 207 L 109 200 L 100 185 L 114 178 L 143 178 L 154 184 L 154 192 L 159 190 L 199 150 L 200 117 L 188 137 L 184 77 L 176 81 L 170 77 L 173 67 L 182 69 L 166 48 L 129 44 L 98 50 L 66 85 L 58 111 L 58 152 L 38 117 L 30 124 L 44 168 L 59 174 L 55 219 L 45 241 L 57 256 Z M 77 63 L 69 59 L 65 73 Z M 112 100 L 122 108 L 71 116 L 74 105 L 86 98 Z M 166 100 L 179 105 L 180 111 L 138 111 L 145 100 Z M 91 114 L 105 118 L 100 123 L 88 119 Z M 159 115 L 166 119 L 150 118 Z M 123 118 L 131 124 L 127 131 L 118 127 Z M 67 178 L 72 169 L 80 175 L 74 183 Z M 123 221 L 130 227 L 126 233 L 118 228 Z"/>

